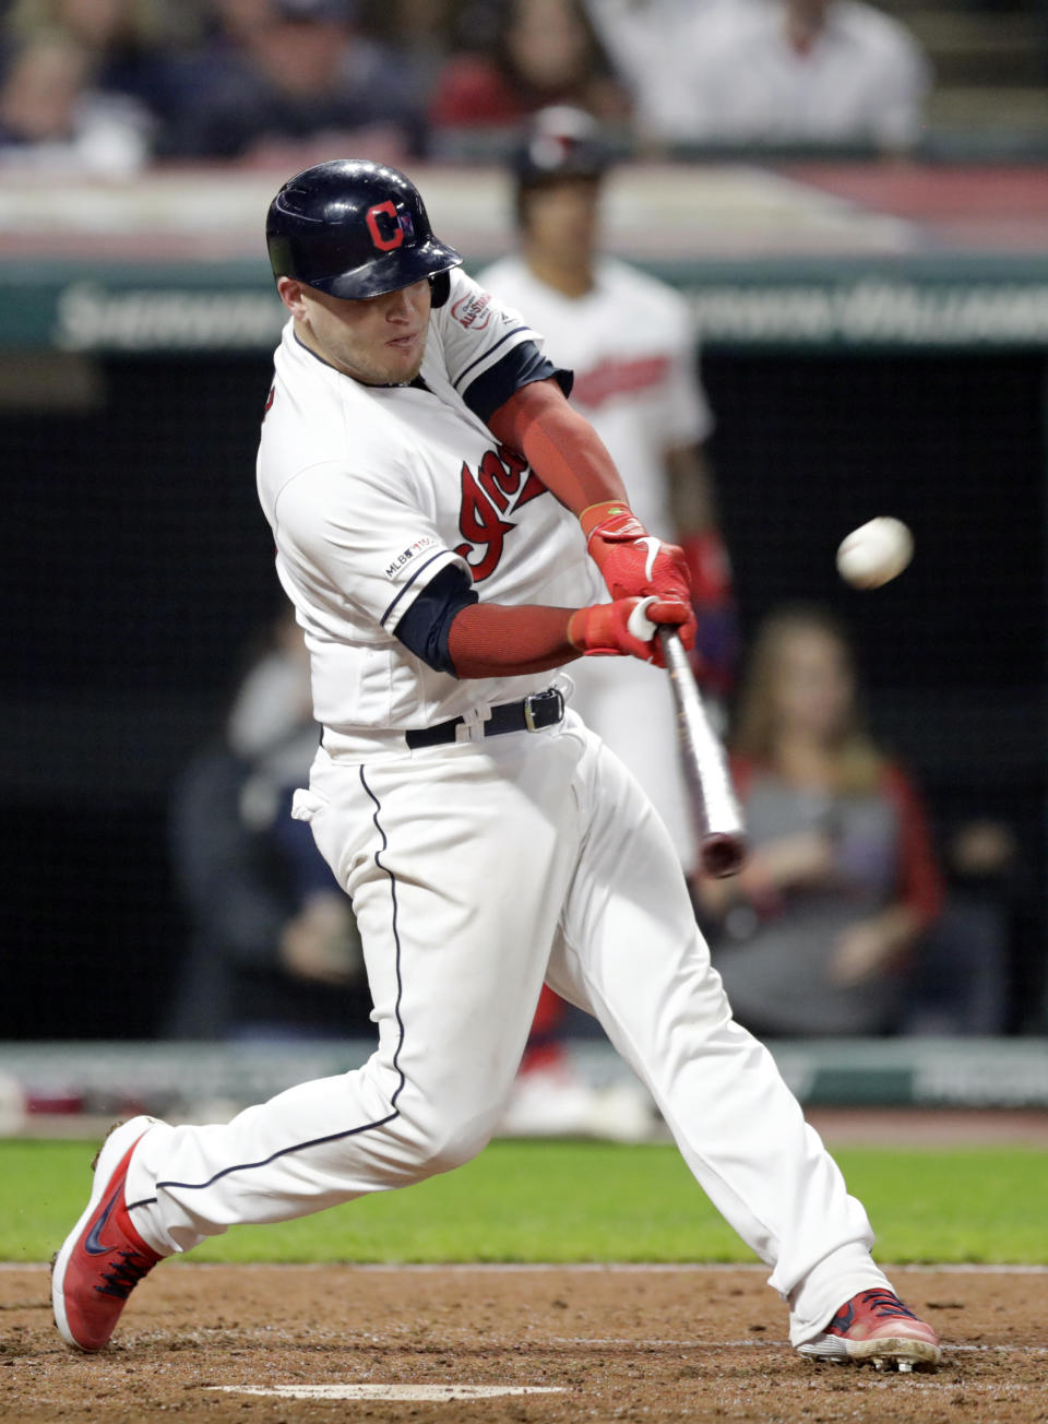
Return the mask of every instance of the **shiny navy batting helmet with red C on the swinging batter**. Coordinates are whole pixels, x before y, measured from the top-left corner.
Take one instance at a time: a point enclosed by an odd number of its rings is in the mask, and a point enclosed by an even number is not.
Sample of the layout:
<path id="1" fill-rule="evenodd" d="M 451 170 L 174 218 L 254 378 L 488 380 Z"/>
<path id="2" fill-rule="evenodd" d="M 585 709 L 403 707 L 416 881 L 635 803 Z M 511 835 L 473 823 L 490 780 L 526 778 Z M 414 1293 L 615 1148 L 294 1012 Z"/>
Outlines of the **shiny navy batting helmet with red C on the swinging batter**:
<path id="1" fill-rule="evenodd" d="M 447 273 L 463 261 L 434 236 L 414 184 L 360 158 L 290 178 L 269 204 L 266 246 L 273 276 L 357 300 L 430 278 L 434 306 L 447 299 Z"/>

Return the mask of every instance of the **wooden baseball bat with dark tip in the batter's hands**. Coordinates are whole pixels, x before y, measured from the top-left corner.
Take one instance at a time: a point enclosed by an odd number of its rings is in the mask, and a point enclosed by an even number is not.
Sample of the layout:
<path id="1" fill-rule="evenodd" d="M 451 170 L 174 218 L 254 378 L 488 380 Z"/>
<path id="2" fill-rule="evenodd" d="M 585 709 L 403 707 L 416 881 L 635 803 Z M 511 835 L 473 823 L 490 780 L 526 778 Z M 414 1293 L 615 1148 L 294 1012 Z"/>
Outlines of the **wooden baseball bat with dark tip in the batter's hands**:
<path id="1" fill-rule="evenodd" d="M 709 876 L 733 876 L 746 859 L 746 827 L 728 770 L 728 758 L 709 725 L 681 638 L 674 628 L 659 628 L 659 642 L 674 689 L 681 759 L 702 869 Z"/>

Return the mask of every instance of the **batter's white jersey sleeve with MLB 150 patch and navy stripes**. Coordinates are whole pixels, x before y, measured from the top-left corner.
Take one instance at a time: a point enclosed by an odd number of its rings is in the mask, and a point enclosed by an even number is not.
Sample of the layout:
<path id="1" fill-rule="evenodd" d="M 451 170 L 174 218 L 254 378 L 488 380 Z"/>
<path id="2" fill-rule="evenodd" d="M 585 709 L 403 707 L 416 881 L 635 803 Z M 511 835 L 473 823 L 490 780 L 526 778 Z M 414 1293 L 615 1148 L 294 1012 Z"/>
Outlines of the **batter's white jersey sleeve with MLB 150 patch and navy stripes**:
<path id="1" fill-rule="evenodd" d="M 302 470 L 281 490 L 276 531 L 288 574 L 313 608 L 353 622 L 362 641 L 396 635 L 437 575 L 464 560 L 389 477 L 349 473 L 329 463 Z"/>

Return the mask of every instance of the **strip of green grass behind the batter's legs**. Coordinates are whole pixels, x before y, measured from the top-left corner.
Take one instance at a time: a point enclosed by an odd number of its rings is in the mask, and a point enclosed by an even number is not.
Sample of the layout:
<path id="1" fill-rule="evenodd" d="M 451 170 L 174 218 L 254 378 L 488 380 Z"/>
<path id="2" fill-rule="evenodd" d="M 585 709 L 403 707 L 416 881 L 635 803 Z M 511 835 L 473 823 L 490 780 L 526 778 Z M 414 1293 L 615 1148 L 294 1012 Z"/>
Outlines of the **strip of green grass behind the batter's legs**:
<path id="1" fill-rule="evenodd" d="M 0 1142 L 0 1259 L 43 1260 L 83 1210 L 94 1143 Z M 883 1260 L 1045 1260 L 1048 1155 L 836 1153 Z M 674 1148 L 497 1142 L 450 1176 L 279 1226 L 243 1226 L 194 1260 L 470 1262 L 753 1257 Z"/>

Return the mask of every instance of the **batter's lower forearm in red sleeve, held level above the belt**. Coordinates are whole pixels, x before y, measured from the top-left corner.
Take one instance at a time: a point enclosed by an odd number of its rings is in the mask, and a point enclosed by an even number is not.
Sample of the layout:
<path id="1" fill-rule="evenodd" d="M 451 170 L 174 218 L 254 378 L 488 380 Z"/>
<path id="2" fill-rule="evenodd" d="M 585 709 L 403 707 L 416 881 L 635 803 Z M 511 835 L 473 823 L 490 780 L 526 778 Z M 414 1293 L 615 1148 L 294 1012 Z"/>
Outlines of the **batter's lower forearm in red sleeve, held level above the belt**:
<path id="1" fill-rule="evenodd" d="M 547 672 L 580 656 L 568 638 L 572 608 L 470 604 L 456 614 L 447 641 L 460 678 L 511 678 Z"/>

